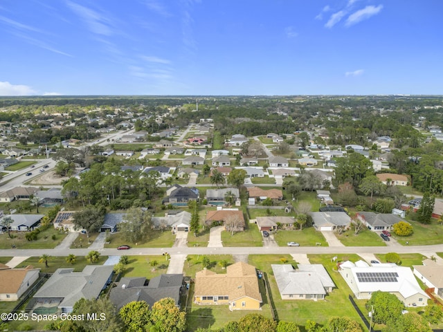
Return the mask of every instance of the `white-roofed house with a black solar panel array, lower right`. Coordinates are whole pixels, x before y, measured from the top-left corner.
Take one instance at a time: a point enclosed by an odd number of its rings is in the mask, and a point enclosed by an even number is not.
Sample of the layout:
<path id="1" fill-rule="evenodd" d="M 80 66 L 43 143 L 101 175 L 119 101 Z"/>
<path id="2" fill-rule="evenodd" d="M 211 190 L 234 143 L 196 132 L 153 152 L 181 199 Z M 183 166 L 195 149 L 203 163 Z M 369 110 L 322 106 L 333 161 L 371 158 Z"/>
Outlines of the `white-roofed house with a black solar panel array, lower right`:
<path id="1" fill-rule="evenodd" d="M 420 288 L 410 268 L 345 261 L 338 271 L 357 299 L 370 299 L 372 293 L 382 291 L 394 294 L 405 306 L 426 306 L 430 298 Z"/>

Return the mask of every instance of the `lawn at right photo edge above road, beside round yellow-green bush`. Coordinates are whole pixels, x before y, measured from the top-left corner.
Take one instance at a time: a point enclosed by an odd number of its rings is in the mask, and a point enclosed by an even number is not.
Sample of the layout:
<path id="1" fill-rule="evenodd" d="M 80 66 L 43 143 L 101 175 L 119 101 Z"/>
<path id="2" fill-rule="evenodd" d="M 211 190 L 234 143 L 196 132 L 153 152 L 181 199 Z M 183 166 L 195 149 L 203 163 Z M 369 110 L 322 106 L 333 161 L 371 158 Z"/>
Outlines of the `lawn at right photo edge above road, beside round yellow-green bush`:
<path id="1" fill-rule="evenodd" d="M 435 219 L 432 219 L 429 225 L 424 225 L 417 221 L 408 220 L 408 222 L 413 226 L 414 230 L 414 233 L 410 235 L 410 237 L 399 237 L 394 232 L 391 232 L 392 237 L 402 246 L 406 246 L 406 241 L 409 242 L 409 246 L 426 246 L 443 243 L 443 226 L 438 225 Z"/>

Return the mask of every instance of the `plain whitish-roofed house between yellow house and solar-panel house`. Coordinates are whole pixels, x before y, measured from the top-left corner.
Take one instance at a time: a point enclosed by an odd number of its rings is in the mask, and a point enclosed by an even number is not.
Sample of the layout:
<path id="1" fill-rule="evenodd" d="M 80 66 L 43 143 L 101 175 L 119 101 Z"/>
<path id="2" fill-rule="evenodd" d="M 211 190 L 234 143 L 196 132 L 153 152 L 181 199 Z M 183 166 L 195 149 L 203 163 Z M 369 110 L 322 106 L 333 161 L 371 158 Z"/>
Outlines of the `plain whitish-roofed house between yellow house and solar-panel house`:
<path id="1" fill-rule="evenodd" d="M 334 282 L 321 264 L 271 264 L 282 299 L 325 299 Z"/>

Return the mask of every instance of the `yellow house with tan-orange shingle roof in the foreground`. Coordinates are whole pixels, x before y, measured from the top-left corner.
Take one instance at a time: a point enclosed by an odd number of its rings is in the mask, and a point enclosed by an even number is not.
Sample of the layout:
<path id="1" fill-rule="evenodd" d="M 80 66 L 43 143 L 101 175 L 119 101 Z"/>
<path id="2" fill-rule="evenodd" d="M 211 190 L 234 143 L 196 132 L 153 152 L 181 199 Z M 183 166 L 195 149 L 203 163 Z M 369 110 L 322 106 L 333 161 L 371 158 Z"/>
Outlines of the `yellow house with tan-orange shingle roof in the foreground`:
<path id="1" fill-rule="evenodd" d="M 228 304 L 229 310 L 260 310 L 262 295 L 255 267 L 239 261 L 226 274 L 202 270 L 195 275 L 194 303 Z"/>

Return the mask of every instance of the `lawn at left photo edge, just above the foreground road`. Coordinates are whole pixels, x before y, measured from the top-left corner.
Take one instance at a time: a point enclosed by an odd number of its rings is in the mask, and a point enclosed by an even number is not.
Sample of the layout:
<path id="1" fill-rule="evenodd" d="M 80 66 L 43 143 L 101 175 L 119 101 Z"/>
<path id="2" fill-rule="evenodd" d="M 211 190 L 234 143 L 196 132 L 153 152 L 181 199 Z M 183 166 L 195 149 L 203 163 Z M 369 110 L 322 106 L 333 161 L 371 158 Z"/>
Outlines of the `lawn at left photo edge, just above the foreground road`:
<path id="1" fill-rule="evenodd" d="M 65 233 L 55 230 L 52 226 L 39 232 L 37 241 L 28 241 L 25 238 L 28 232 L 10 233 L 14 239 L 8 237 L 8 232 L 0 234 L 0 249 L 10 249 L 12 245 L 15 245 L 17 249 L 52 249 L 66 237 Z M 52 239 L 53 235 L 55 235 L 55 240 Z"/>

